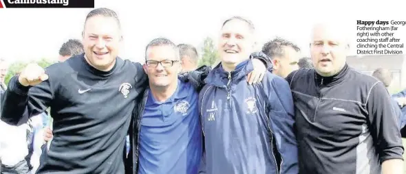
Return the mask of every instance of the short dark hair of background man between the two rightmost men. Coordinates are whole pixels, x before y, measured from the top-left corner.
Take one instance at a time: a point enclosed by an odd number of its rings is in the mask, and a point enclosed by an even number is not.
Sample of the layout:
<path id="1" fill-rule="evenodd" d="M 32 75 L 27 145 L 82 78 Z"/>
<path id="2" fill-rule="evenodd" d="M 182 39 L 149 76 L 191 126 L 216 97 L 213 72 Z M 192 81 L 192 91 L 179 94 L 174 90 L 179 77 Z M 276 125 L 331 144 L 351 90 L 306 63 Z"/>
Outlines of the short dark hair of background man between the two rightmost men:
<path id="1" fill-rule="evenodd" d="M 266 42 L 262 47 L 262 52 L 273 59 L 275 56 L 284 56 L 284 47 L 292 47 L 295 51 L 300 51 L 293 42 L 277 37 Z"/>

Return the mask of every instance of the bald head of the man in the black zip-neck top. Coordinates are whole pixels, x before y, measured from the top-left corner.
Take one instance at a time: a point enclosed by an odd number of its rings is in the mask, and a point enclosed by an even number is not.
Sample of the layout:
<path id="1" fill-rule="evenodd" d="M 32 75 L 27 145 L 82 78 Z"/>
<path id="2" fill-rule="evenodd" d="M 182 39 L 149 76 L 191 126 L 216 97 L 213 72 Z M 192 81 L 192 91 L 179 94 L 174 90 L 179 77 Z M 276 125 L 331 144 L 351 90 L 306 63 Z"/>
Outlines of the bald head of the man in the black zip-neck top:
<path id="1" fill-rule="evenodd" d="M 347 30 L 340 23 L 317 23 L 310 38 L 314 69 L 323 77 L 339 73 L 345 66 L 349 45 Z"/>

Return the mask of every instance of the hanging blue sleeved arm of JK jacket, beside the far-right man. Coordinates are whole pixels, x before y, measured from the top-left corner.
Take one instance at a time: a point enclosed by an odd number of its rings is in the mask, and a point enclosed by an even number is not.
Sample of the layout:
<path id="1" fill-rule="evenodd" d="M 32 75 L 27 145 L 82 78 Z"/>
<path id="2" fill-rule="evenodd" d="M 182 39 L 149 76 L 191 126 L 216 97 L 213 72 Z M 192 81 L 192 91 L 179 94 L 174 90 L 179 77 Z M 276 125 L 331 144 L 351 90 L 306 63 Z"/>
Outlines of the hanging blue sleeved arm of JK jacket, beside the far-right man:
<path id="1" fill-rule="evenodd" d="M 281 153 L 281 173 L 298 173 L 295 109 L 289 84 L 281 77 L 268 74 L 264 91 L 268 95 L 270 127 Z"/>

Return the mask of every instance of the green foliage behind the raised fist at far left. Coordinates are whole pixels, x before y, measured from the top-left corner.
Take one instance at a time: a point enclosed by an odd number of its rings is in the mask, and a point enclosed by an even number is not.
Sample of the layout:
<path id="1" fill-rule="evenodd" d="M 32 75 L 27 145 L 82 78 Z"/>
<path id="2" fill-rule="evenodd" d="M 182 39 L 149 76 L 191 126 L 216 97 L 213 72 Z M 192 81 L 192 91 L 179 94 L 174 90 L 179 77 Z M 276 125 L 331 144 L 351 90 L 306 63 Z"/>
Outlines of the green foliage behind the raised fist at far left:
<path id="1" fill-rule="evenodd" d="M 36 62 L 39 66 L 46 68 L 47 66 L 50 66 L 51 64 L 54 64 L 55 62 L 52 62 L 48 59 L 42 58 L 41 60 L 33 61 Z M 8 82 L 10 82 L 11 77 L 13 77 L 17 73 L 21 73 L 21 71 L 24 69 L 25 66 L 30 62 L 14 62 L 13 64 L 10 64 L 8 67 L 8 72 L 6 77 L 4 77 L 4 83 L 8 85 Z"/>

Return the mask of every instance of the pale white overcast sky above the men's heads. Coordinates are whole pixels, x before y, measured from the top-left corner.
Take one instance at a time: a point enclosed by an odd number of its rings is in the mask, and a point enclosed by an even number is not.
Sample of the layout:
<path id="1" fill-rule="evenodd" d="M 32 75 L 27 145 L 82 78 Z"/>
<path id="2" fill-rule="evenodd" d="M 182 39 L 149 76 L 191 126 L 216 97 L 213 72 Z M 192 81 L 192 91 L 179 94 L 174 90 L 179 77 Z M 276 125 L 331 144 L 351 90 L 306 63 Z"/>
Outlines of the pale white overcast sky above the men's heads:
<path id="1" fill-rule="evenodd" d="M 122 58 L 141 61 L 145 45 L 157 37 L 175 44 L 189 43 L 200 50 L 206 36 L 217 39 L 222 21 L 231 16 L 249 18 L 257 28 L 259 46 L 275 36 L 296 42 L 308 56 L 312 23 L 321 18 L 345 21 L 355 42 L 356 20 L 406 21 L 404 6 L 391 1 L 126 1 L 95 0 L 96 8 L 116 10 L 125 40 Z M 57 58 L 70 38 L 81 38 L 91 9 L 1 9 L 0 57 L 6 60 Z M 400 26 L 401 27 L 401 26 Z M 406 30 L 395 35 L 406 41 Z"/>

